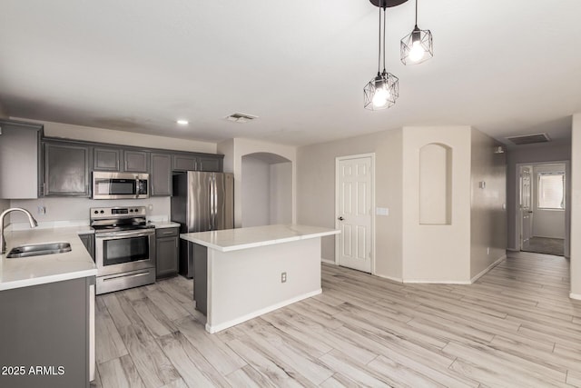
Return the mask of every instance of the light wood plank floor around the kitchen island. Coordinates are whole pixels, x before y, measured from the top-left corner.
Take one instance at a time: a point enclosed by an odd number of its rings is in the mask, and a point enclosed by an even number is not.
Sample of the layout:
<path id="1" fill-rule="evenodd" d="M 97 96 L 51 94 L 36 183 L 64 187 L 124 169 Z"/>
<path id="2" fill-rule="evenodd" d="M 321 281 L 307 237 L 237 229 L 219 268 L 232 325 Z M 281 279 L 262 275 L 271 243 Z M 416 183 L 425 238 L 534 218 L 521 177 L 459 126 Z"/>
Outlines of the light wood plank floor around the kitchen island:
<path id="1" fill-rule="evenodd" d="M 472 285 L 323 264 L 321 295 L 209 334 L 177 277 L 97 297 L 94 386 L 581 386 L 568 279 L 565 258 L 542 254 Z"/>

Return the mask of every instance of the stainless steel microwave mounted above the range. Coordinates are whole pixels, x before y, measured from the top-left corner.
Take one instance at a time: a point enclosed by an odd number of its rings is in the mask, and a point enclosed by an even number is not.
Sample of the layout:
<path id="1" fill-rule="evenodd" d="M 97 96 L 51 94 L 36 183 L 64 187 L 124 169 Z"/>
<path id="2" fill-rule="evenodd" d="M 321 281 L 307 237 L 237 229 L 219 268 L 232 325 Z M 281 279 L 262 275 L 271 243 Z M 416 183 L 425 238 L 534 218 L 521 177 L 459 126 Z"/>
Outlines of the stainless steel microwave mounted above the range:
<path id="1" fill-rule="evenodd" d="M 149 174 L 94 171 L 93 199 L 149 198 Z"/>

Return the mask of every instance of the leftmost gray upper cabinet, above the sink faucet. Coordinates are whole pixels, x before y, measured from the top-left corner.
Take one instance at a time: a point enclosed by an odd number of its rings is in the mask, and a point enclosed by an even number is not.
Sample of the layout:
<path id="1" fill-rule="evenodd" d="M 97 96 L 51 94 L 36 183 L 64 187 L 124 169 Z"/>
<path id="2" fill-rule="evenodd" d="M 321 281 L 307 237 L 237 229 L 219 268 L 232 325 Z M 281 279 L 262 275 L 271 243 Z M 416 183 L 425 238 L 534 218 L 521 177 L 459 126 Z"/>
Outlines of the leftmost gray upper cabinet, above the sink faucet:
<path id="1" fill-rule="evenodd" d="M 38 197 L 42 125 L 0 120 L 0 198 Z"/>

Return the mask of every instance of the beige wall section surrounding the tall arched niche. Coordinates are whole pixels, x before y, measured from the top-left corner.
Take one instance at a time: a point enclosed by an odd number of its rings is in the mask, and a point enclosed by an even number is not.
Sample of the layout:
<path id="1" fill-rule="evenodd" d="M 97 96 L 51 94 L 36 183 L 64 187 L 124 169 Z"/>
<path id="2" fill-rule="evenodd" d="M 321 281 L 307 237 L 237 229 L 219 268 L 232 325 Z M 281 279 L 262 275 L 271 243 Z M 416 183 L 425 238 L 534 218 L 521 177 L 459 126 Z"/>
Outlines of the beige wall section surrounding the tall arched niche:
<path id="1" fill-rule="evenodd" d="M 403 279 L 468 283 L 470 280 L 469 126 L 403 128 Z M 451 148 L 451 224 L 419 224 L 419 149 Z"/>

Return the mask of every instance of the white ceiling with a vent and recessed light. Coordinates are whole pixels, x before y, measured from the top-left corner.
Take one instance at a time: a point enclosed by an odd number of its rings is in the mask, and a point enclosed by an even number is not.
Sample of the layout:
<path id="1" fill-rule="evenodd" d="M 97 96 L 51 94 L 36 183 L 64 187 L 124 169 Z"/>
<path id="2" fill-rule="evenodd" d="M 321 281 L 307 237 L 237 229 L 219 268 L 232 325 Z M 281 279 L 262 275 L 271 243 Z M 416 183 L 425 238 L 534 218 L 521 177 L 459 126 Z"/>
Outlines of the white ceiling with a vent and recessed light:
<path id="1" fill-rule="evenodd" d="M 438 124 L 566 139 L 581 112 L 579 15 L 578 0 L 420 0 L 434 57 L 405 66 L 414 2 L 389 8 L 399 99 L 371 112 L 369 0 L 2 0 L 0 104 L 15 117 L 212 142 L 303 145 Z M 224 119 L 235 112 L 259 118 Z"/>

